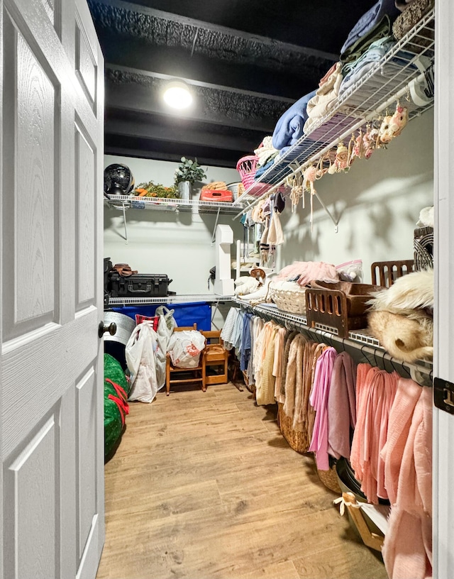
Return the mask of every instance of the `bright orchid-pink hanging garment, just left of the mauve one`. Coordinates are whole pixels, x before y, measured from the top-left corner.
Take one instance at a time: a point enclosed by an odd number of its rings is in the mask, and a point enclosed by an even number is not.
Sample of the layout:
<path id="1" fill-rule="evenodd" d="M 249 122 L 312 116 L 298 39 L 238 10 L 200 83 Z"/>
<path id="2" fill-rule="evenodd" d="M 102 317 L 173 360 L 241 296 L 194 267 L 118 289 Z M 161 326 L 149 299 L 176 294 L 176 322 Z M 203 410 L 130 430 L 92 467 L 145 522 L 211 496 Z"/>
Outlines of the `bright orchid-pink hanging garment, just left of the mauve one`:
<path id="1" fill-rule="evenodd" d="M 316 412 L 309 451 L 315 453 L 317 468 L 319 468 L 319 470 L 329 470 L 328 395 L 336 355 L 337 352 L 334 348 L 326 348 L 317 360 L 314 387 L 309 397 L 309 402 Z"/>

